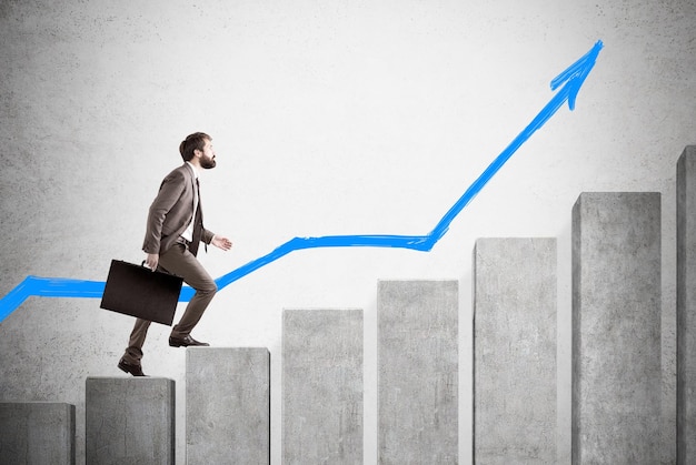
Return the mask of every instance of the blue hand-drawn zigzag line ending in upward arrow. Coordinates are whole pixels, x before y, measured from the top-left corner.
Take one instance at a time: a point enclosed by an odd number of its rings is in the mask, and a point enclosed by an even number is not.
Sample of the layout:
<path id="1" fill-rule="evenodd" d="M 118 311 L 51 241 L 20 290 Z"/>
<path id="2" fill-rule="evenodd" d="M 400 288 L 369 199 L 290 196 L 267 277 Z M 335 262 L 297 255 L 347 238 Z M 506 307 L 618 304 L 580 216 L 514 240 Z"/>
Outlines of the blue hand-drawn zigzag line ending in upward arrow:
<path id="1" fill-rule="evenodd" d="M 466 190 L 464 195 L 449 209 L 437 223 L 435 229 L 426 235 L 329 235 L 321 237 L 295 237 L 280 245 L 271 253 L 258 257 L 246 265 L 233 270 L 216 280 L 218 289 L 266 266 L 269 263 L 305 249 L 319 247 L 395 247 L 428 252 L 447 233 L 449 225 L 466 205 L 484 189 L 490 179 L 500 170 L 510 156 L 538 129 L 540 129 L 560 107 L 567 101 L 568 108 L 575 110 L 575 100 L 585 82 L 585 79 L 595 67 L 599 51 L 604 47 L 599 40 L 583 58 L 558 74 L 550 83 L 551 90 L 560 88 L 554 98 L 541 109 L 531 122 L 510 142 L 510 144 L 484 170 L 476 181 Z M 563 85 L 563 88 L 561 88 Z M 106 283 L 99 281 L 69 280 L 62 277 L 27 276 L 17 287 L 0 300 L 0 322 L 18 309 L 28 297 L 87 297 L 99 299 Z M 185 286 L 181 290 L 179 302 L 188 302 L 193 296 L 193 290 Z"/>

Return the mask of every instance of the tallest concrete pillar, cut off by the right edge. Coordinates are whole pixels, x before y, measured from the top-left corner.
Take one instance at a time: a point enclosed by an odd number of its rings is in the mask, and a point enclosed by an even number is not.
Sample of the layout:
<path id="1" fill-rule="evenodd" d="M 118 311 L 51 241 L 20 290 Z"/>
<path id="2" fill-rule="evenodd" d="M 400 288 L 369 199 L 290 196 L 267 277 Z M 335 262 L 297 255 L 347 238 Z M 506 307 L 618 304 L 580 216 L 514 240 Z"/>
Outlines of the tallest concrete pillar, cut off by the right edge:
<path id="1" fill-rule="evenodd" d="M 677 163 L 677 464 L 696 463 L 696 145 Z"/>

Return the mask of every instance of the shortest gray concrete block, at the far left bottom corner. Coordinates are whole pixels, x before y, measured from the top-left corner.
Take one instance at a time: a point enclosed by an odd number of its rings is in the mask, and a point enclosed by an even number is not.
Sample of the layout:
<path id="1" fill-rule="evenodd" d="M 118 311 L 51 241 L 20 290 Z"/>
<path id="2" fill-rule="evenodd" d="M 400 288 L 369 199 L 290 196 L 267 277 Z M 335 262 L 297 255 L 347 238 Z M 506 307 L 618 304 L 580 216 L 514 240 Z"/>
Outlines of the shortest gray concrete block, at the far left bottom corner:
<path id="1" fill-rule="evenodd" d="M 0 403 L 0 464 L 74 464 L 74 405 Z"/>

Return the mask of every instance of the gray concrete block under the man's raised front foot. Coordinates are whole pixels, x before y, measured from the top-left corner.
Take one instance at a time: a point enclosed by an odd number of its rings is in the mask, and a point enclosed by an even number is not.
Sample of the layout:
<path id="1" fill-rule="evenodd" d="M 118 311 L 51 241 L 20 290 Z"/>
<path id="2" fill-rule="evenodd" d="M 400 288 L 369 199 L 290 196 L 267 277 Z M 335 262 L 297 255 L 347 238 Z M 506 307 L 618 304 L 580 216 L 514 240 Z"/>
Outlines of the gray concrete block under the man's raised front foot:
<path id="1" fill-rule="evenodd" d="M 186 351 L 187 464 L 270 463 L 268 348 Z"/>

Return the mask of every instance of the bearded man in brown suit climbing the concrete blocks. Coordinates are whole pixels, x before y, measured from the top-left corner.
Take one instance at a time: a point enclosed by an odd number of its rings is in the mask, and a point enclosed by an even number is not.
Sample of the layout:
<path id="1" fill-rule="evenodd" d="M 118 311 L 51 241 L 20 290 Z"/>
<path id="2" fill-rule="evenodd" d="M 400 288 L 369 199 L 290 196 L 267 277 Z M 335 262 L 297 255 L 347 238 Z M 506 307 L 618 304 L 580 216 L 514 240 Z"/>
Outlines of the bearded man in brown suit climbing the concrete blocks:
<path id="1" fill-rule="evenodd" d="M 171 330 L 169 345 L 207 346 L 209 344 L 191 337 L 191 331 L 218 287 L 196 254 L 200 242 L 206 244 L 206 249 L 212 244 L 223 251 L 230 250 L 232 243 L 203 228 L 198 175 L 201 170 L 216 166 L 212 139 L 206 133 L 196 132 L 181 142 L 179 152 L 185 163 L 165 178 L 150 205 L 142 250 L 151 270 L 181 276 L 196 291 L 183 316 Z M 133 376 L 145 376 L 141 365 L 142 344 L 149 326 L 149 321 L 136 320 L 128 347 L 118 364 L 120 370 Z"/>

